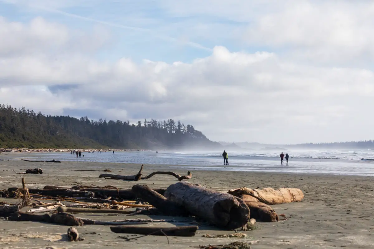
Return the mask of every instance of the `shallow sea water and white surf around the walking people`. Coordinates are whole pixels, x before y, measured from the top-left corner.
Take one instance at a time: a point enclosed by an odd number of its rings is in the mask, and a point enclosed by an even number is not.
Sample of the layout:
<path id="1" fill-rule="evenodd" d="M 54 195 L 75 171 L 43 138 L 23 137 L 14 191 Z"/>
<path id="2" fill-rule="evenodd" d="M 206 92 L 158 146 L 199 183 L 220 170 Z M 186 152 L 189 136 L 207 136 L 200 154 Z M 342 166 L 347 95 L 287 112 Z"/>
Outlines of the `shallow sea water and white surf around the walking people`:
<path id="1" fill-rule="evenodd" d="M 160 165 L 159 168 L 183 170 L 222 170 L 222 171 L 257 171 L 287 173 L 317 173 L 343 175 L 374 176 L 374 150 L 248 150 L 230 151 L 229 165 L 223 165 L 223 151 L 126 151 L 83 153 L 85 157 L 76 158 L 70 153 L 9 153 L 1 159 L 55 159 L 61 161 L 114 162 Z M 289 164 L 281 165 L 279 154 L 290 156 Z M 59 166 L 56 164 L 56 166 Z M 62 166 L 62 165 L 61 165 Z M 120 165 L 119 165 L 120 166 Z M 105 168 L 105 165 L 99 166 Z M 121 166 L 122 167 L 122 166 Z"/>

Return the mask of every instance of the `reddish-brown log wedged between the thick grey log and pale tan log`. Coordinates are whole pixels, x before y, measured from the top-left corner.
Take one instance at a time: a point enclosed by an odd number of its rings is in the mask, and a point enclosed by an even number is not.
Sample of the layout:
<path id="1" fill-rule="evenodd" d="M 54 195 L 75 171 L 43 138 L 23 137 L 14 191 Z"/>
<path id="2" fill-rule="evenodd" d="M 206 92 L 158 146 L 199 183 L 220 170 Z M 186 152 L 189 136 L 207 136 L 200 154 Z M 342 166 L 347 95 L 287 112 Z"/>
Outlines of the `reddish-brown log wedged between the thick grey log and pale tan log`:
<path id="1" fill-rule="evenodd" d="M 277 213 L 269 205 L 260 202 L 258 199 L 248 194 L 242 194 L 239 198 L 242 199 L 249 210 L 251 210 L 251 218 L 264 222 L 279 221 Z"/>

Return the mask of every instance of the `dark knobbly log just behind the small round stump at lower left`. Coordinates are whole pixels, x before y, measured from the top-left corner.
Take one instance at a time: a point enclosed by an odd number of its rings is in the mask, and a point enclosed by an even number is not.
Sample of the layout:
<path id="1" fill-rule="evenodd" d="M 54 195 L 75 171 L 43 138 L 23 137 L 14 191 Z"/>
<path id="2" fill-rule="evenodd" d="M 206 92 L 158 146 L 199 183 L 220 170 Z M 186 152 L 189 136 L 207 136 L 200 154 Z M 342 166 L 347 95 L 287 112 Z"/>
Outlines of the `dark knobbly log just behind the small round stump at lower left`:
<path id="1" fill-rule="evenodd" d="M 56 213 L 49 216 L 48 214 L 37 215 L 37 214 L 26 214 L 23 212 L 16 212 L 10 217 L 11 221 L 39 221 L 60 225 L 69 225 L 69 226 L 80 226 L 83 225 L 83 221 L 79 218 L 74 217 L 71 214 L 65 213 Z"/>

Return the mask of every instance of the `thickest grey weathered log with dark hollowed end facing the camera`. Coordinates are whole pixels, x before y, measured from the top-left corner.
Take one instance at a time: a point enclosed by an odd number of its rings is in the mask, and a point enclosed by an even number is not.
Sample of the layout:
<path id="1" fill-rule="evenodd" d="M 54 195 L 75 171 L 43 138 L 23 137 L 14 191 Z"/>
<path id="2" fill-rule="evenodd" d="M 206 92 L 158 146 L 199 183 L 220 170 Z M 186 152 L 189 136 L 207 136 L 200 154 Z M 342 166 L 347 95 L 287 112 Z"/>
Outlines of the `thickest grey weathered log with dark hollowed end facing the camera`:
<path id="1" fill-rule="evenodd" d="M 250 211 L 242 199 L 186 181 L 170 185 L 165 197 L 221 228 L 232 230 L 243 227 L 249 221 Z"/>

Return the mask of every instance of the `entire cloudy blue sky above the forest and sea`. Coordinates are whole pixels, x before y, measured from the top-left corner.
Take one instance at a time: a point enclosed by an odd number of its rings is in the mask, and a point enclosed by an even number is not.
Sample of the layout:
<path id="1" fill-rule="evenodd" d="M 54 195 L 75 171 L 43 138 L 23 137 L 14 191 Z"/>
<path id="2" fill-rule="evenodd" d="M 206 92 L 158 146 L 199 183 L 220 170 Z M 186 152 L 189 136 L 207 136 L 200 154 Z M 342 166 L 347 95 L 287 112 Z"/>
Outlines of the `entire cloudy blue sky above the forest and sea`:
<path id="1" fill-rule="evenodd" d="M 370 0 L 0 0 L 0 103 L 209 139 L 374 138 Z"/>

